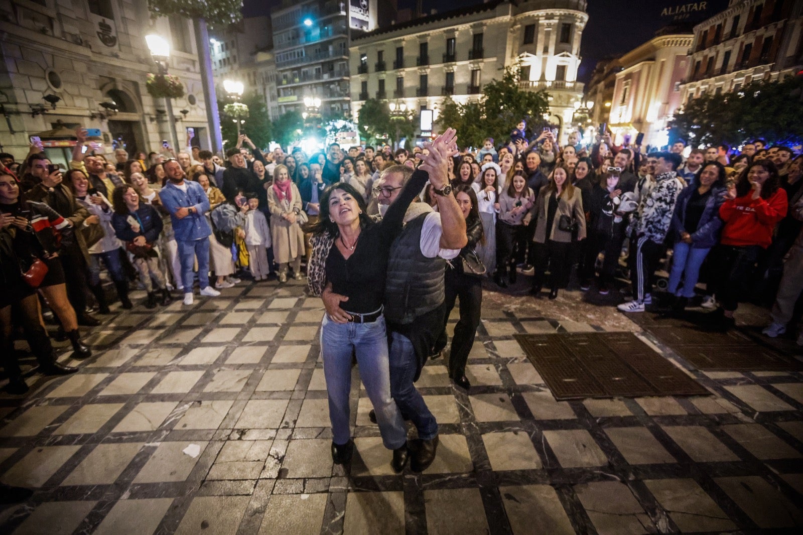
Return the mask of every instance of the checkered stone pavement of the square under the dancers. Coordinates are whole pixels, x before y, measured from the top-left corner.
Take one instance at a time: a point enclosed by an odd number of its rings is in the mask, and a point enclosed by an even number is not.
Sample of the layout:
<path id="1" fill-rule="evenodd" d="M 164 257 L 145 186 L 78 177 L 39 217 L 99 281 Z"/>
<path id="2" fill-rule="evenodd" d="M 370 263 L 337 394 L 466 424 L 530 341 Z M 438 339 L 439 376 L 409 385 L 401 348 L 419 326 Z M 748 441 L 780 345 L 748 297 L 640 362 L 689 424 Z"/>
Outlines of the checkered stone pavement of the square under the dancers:
<path id="1" fill-rule="evenodd" d="M 323 309 L 303 284 L 242 284 L 193 307 L 108 317 L 88 337 L 95 356 L 78 374 L 29 378 L 26 397 L 0 398 L 0 482 L 35 489 L 26 503 L 2 506 L 0 533 L 803 525 L 801 374 L 690 370 L 710 396 L 556 402 L 512 335 L 610 327 L 548 319 L 550 304 L 539 315 L 519 306 L 525 299 L 486 300 L 469 394 L 450 386 L 442 359 L 427 364 L 418 388 L 440 423 L 438 457 L 422 474 L 401 475 L 369 422 L 356 369 L 357 451 L 349 470 L 332 464 Z M 456 311 L 450 329 L 454 321 Z"/>

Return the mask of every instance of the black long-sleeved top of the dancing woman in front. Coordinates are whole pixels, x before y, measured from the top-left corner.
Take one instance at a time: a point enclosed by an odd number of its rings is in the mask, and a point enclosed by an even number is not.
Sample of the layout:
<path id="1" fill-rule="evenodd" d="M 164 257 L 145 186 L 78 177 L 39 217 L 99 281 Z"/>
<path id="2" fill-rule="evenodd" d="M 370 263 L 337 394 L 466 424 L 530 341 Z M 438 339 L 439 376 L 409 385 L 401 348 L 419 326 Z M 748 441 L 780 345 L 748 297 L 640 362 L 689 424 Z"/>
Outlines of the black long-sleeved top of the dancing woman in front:
<path id="1" fill-rule="evenodd" d="M 332 245 L 326 259 L 326 280 L 332 283 L 332 292 L 349 297 L 340 305 L 344 310 L 366 314 L 381 306 L 385 298 L 390 245 L 402 231 L 407 207 L 428 180 L 426 171 L 416 170 L 381 222 L 363 227 L 357 246 L 348 259 L 344 259 L 336 245 Z"/>

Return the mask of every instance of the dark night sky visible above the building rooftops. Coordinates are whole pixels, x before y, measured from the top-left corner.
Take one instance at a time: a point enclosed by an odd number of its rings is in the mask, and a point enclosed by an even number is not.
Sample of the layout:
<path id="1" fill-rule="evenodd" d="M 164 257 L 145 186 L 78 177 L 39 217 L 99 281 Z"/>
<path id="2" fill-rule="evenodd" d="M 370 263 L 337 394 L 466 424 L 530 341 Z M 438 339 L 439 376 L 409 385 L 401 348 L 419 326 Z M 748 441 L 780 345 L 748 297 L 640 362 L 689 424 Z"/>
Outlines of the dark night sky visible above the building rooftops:
<path id="1" fill-rule="evenodd" d="M 482 3 L 482 0 L 459 0 L 463 6 Z M 589 0 L 589 22 L 583 31 L 581 42 L 582 63 L 577 78 L 587 82 L 597 60 L 609 55 L 621 55 L 648 41 L 656 31 L 672 24 L 671 16 L 662 17 L 665 8 L 688 5 L 690 0 Z M 697 2 L 700 3 L 700 2 Z M 707 0 L 707 9 L 692 13 L 693 18 L 683 21 L 691 26 L 709 18 L 728 7 L 728 0 Z M 243 14 L 255 16 L 268 14 L 271 4 L 277 0 L 244 0 Z M 414 9 L 416 0 L 398 0 L 399 9 Z M 423 10 L 443 11 L 454 9 L 454 0 L 423 0 Z M 691 28 L 690 28 L 691 30 Z"/>

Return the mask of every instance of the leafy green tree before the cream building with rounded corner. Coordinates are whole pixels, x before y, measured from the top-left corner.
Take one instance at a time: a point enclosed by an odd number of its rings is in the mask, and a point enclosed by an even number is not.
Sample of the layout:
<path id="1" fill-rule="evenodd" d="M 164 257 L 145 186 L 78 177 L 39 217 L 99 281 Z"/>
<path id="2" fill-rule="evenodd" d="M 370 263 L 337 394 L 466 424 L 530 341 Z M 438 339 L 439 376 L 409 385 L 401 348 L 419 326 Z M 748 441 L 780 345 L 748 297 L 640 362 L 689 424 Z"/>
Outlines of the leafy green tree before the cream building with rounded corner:
<path id="1" fill-rule="evenodd" d="M 446 97 L 438 116 L 442 128 L 456 129 L 459 145 L 478 147 L 486 137 L 493 137 L 498 145 L 510 137 L 522 119 L 530 129 L 544 125 L 549 95 L 544 89 L 533 92 L 519 88 L 518 72 L 517 66 L 506 68 L 500 80 L 483 87 L 483 98 L 478 101 L 458 104 Z"/>

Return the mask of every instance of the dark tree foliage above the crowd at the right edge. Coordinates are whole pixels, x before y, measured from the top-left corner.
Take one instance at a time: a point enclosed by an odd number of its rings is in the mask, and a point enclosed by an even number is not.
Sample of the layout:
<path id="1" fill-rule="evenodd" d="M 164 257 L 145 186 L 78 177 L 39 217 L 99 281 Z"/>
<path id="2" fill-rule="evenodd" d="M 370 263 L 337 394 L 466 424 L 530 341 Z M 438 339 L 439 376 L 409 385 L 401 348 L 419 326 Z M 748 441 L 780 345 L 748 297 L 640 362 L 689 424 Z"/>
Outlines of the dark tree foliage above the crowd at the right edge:
<path id="1" fill-rule="evenodd" d="M 752 82 L 735 92 L 705 93 L 691 99 L 670 122 L 670 139 L 690 145 L 738 146 L 764 138 L 770 144 L 803 140 L 803 77 Z"/>

